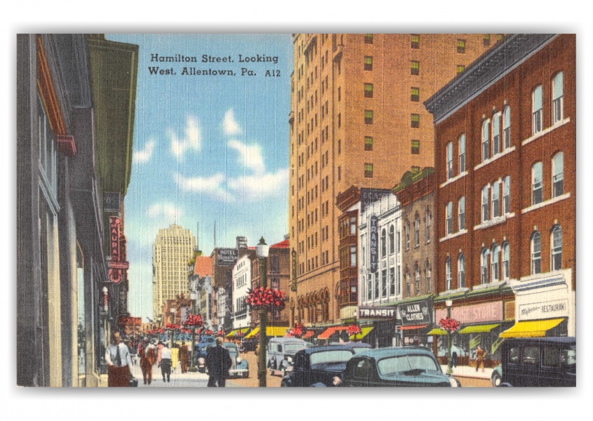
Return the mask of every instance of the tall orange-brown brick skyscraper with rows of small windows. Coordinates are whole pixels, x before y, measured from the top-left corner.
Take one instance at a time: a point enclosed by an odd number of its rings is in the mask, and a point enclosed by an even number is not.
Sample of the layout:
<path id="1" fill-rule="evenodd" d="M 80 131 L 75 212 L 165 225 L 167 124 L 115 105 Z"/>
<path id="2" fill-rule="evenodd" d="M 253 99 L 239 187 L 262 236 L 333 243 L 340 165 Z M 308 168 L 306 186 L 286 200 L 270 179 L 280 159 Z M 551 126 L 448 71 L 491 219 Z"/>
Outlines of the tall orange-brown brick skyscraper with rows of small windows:
<path id="1" fill-rule="evenodd" d="M 341 323 L 336 196 L 352 185 L 391 188 L 411 167 L 434 166 L 432 115 L 423 101 L 498 39 L 497 34 L 294 34 L 291 323 Z M 349 262 L 350 250 L 342 251 Z"/>

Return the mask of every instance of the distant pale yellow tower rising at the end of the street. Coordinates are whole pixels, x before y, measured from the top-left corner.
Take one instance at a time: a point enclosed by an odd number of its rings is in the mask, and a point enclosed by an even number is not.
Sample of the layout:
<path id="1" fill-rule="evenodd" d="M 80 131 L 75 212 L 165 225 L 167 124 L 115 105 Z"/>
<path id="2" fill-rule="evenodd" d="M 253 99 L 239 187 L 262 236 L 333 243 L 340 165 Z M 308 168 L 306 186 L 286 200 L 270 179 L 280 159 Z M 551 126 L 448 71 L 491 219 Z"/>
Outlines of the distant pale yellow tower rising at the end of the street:
<path id="1" fill-rule="evenodd" d="M 189 229 L 170 225 L 158 230 L 152 256 L 152 308 L 155 317 L 163 311 L 166 300 L 189 294 L 187 262 L 193 257 L 196 237 Z"/>

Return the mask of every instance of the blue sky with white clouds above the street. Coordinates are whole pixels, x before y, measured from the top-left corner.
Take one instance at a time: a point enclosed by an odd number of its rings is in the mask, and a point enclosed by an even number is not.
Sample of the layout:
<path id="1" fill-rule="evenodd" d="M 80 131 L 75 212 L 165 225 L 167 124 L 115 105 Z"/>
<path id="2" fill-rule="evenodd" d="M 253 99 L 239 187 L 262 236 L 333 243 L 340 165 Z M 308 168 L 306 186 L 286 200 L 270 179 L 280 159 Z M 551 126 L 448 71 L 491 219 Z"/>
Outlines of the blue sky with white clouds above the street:
<path id="1" fill-rule="evenodd" d="M 108 34 L 139 45 L 134 159 L 125 196 L 130 313 L 152 316 L 152 245 L 159 228 L 191 229 L 210 255 L 288 233 L 290 34 Z M 151 62 L 151 55 L 196 56 L 198 62 Z M 232 63 L 203 63 L 202 55 Z M 240 63 L 239 55 L 278 56 Z M 177 74 L 151 75 L 149 67 Z M 236 76 L 182 76 L 183 67 L 233 69 Z M 241 67 L 255 76 L 240 76 Z M 280 76 L 266 77 L 266 69 Z"/>

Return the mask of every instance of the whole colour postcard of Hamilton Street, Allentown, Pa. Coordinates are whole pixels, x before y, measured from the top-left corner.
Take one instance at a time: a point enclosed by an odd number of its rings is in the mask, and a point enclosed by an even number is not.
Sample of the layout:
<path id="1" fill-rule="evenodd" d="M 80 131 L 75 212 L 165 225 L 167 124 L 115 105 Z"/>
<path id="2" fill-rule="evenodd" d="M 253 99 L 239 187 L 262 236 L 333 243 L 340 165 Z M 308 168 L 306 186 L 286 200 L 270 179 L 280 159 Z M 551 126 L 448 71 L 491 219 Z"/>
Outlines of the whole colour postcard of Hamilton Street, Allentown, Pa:
<path id="1" fill-rule="evenodd" d="M 575 34 L 19 34 L 17 385 L 574 387 Z"/>

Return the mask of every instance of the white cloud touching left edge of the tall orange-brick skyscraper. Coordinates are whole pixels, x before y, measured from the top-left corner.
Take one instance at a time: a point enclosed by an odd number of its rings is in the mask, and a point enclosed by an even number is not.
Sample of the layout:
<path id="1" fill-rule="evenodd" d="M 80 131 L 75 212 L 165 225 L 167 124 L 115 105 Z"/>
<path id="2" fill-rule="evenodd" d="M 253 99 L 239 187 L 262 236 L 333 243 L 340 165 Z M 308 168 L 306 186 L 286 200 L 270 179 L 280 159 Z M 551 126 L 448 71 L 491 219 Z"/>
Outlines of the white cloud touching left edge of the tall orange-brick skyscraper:
<path id="1" fill-rule="evenodd" d="M 242 175 L 229 179 L 227 184 L 229 189 L 245 200 L 264 199 L 288 191 L 288 168 L 276 173 Z"/>

